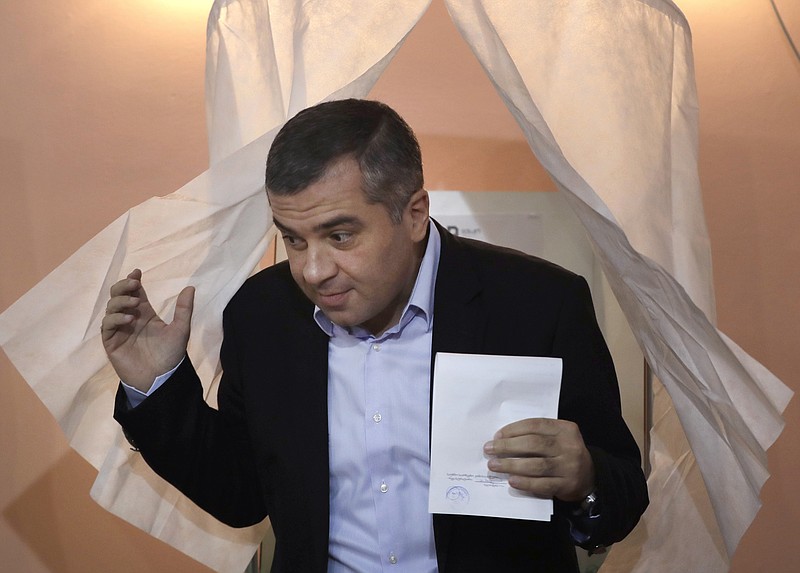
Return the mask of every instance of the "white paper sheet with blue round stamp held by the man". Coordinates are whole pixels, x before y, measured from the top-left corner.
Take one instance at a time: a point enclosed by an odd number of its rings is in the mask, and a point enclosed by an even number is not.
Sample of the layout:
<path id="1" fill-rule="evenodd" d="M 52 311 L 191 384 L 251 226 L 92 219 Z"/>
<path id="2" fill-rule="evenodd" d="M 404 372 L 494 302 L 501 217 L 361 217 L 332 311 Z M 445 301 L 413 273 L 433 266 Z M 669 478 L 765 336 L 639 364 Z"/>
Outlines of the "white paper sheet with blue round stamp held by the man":
<path id="1" fill-rule="evenodd" d="M 428 511 L 549 521 L 553 500 L 489 471 L 483 445 L 525 418 L 556 418 L 561 359 L 439 352 L 433 374 Z"/>

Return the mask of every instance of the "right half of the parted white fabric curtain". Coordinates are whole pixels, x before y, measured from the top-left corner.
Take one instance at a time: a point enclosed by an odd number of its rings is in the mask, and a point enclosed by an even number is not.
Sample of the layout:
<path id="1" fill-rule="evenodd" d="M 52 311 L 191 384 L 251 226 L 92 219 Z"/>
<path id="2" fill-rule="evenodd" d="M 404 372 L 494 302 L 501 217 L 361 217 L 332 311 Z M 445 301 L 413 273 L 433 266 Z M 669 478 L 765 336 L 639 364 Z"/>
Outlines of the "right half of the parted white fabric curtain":
<path id="1" fill-rule="evenodd" d="M 603 569 L 726 571 L 791 392 L 713 326 L 689 26 L 666 0 L 445 3 L 668 391 L 657 394 L 651 506 Z"/>

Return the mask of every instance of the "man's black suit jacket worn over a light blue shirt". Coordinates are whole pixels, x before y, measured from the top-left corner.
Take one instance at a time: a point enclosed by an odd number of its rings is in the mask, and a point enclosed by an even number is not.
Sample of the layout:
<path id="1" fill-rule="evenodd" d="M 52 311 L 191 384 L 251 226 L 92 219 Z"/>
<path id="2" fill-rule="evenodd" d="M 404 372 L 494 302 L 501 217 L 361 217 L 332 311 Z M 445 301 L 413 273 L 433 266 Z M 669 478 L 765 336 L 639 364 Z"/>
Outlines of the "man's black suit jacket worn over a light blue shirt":
<path id="1" fill-rule="evenodd" d="M 579 425 L 603 500 L 591 542 L 621 539 L 647 491 L 586 282 L 541 259 L 440 233 L 433 355 L 561 357 L 559 417 Z M 135 409 L 120 392 L 115 417 L 156 472 L 221 521 L 245 526 L 269 515 L 273 571 L 324 572 L 327 336 L 285 263 L 249 279 L 223 323 L 218 411 L 186 360 Z M 434 515 L 440 571 L 577 571 L 565 513 L 557 504 L 551 522 Z"/>

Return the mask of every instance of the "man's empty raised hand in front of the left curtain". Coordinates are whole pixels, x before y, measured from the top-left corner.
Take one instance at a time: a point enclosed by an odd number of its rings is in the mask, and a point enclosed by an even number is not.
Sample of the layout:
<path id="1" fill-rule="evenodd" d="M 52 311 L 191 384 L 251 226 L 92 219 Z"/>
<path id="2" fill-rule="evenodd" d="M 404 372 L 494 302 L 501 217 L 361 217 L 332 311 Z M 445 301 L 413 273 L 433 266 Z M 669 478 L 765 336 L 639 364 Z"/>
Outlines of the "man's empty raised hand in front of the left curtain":
<path id="1" fill-rule="evenodd" d="M 186 354 L 194 307 L 194 287 L 178 295 L 175 316 L 165 323 L 153 310 L 134 269 L 111 287 L 101 335 L 108 359 L 120 380 L 146 392 L 153 380 L 180 363 Z"/>

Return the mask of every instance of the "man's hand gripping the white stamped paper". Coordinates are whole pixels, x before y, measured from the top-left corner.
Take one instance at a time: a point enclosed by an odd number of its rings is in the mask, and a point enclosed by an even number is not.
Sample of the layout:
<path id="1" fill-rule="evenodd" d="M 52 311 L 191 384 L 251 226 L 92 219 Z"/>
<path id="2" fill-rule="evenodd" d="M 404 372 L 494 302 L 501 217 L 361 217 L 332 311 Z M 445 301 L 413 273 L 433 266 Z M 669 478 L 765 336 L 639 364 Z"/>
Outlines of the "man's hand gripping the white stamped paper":
<path id="1" fill-rule="evenodd" d="M 500 429 L 483 451 L 489 469 L 508 485 L 539 497 L 578 501 L 594 488 L 594 465 L 578 426 L 567 420 L 528 418 Z"/>

